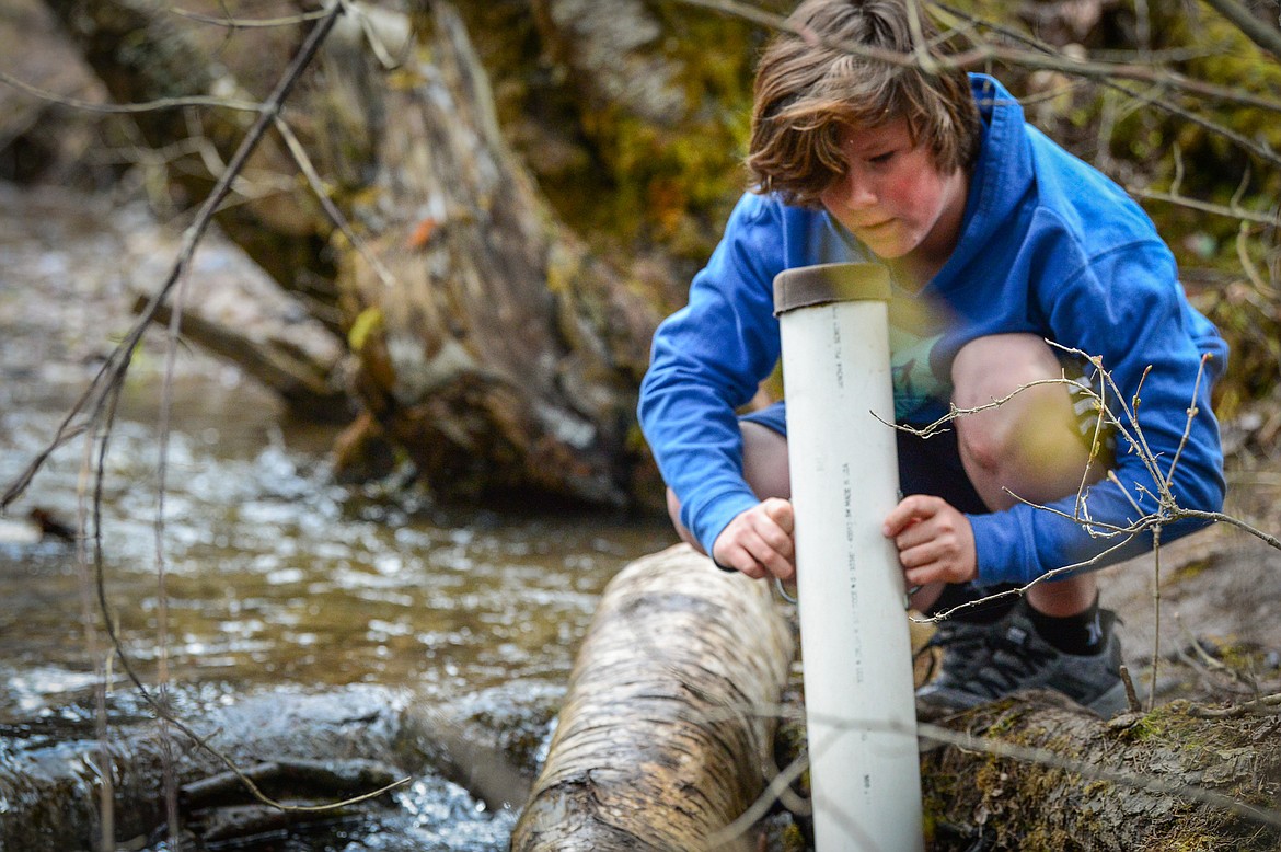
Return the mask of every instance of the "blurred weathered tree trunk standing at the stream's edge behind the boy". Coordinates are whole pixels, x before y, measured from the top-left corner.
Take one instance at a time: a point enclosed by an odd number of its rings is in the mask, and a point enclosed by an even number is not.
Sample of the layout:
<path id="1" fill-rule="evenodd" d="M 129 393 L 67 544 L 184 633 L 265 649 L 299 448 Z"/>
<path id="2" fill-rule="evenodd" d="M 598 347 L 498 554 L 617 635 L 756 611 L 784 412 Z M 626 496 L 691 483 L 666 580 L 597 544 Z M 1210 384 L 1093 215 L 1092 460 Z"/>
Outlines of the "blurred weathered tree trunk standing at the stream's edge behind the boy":
<path id="1" fill-rule="evenodd" d="M 623 504 L 657 318 L 556 224 L 498 133 L 457 15 L 442 4 L 433 23 L 430 64 L 348 104 L 375 128 L 370 247 L 386 270 L 343 263 L 356 387 L 442 489 Z M 364 54 L 342 68 L 386 77 Z"/>

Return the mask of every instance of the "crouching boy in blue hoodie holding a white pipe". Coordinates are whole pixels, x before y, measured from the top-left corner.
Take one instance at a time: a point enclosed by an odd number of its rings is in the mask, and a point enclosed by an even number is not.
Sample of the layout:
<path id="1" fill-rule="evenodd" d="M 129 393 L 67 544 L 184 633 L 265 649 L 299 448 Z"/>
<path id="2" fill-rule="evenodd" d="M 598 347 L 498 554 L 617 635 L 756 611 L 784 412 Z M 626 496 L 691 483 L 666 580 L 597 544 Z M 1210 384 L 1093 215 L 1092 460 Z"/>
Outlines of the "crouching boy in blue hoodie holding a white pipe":
<path id="1" fill-rule="evenodd" d="M 772 40 L 756 78 L 755 187 L 689 304 L 656 332 L 639 415 L 681 536 L 722 568 L 792 578 L 784 404 L 735 416 L 779 356 L 771 283 L 794 266 L 883 263 L 901 424 L 1025 388 L 929 441 L 898 432 L 907 496 L 883 532 L 920 587 L 913 606 L 939 612 L 1104 551 L 1090 569 L 1150 548 L 1149 533 L 1120 547 L 1123 536 L 1098 533 L 1158 511 L 1155 475 L 1176 457 L 1177 505 L 1217 511 L 1209 388 L 1227 347 L 1187 304 L 1143 210 L 1027 126 L 997 81 L 872 58 L 933 53 L 917 14 L 908 0 L 807 0 L 790 18 L 804 35 Z M 1114 411 L 1141 384 L 1138 422 L 1159 473 L 1123 439 L 1114 460 L 1095 457 L 1091 528 L 1073 515 L 1095 413 L 1062 382 L 1084 364 L 1047 341 L 1102 356 L 1122 395 L 1108 395 Z M 1100 479 L 1107 466 L 1114 480 Z M 1113 619 L 1086 571 L 967 607 L 942 624 L 942 671 L 918 702 L 968 707 L 1043 687 L 1109 716 L 1125 694 Z"/>

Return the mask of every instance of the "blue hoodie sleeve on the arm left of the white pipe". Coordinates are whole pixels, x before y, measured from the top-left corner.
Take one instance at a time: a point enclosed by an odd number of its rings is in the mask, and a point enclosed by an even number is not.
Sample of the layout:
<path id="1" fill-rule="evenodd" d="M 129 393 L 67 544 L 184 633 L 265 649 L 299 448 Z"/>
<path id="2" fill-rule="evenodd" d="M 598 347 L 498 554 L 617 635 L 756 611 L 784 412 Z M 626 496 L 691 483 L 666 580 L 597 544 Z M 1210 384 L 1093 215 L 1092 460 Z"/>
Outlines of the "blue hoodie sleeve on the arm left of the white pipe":
<path id="1" fill-rule="evenodd" d="M 780 205 L 746 195 L 690 286 L 689 304 L 655 332 L 640 383 L 640 428 L 681 521 L 707 552 L 758 500 L 743 479 L 735 409 L 779 359 L 774 277 L 783 269 Z"/>

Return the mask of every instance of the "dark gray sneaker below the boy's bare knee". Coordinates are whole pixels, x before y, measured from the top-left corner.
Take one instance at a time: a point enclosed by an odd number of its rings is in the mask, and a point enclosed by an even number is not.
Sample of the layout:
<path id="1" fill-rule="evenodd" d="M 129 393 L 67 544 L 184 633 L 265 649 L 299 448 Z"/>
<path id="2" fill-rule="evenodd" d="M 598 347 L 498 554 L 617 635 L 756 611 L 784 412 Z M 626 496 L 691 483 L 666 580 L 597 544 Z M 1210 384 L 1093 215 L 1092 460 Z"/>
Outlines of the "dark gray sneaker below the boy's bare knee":
<path id="1" fill-rule="evenodd" d="M 916 691 L 918 707 L 967 710 L 1021 689 L 1053 689 L 1111 719 L 1126 707 L 1121 682 L 1121 639 L 1116 614 L 1099 610 L 1108 637 L 1099 653 L 1065 653 L 1036 633 L 1025 605 L 989 629 L 985 646 L 971 651 L 970 662 L 943 674 Z M 972 625 L 971 625 L 972 627 Z"/>

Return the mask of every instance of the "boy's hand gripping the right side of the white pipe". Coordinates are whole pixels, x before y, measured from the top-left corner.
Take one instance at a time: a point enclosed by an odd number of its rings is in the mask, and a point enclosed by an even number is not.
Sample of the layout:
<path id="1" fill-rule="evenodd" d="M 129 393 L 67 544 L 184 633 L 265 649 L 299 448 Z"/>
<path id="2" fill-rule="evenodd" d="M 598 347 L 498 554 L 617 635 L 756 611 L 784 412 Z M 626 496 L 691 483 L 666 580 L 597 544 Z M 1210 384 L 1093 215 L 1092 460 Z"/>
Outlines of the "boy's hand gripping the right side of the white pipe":
<path id="1" fill-rule="evenodd" d="M 979 575 L 970 519 L 942 497 L 904 497 L 885 518 L 881 533 L 894 539 L 910 587 L 965 583 Z"/>

